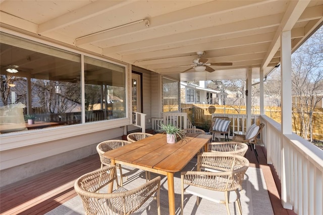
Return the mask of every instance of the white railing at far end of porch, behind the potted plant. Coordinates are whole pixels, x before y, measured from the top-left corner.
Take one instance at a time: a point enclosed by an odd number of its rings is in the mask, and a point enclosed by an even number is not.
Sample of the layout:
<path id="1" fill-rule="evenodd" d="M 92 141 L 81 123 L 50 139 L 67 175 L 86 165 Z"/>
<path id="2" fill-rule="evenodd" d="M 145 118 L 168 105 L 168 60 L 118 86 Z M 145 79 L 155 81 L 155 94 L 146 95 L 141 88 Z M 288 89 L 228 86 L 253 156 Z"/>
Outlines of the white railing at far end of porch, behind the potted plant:
<path id="1" fill-rule="evenodd" d="M 190 120 L 187 118 L 187 113 L 165 112 L 163 118 L 151 118 L 151 129 L 159 130 L 160 124 L 173 124 L 179 128 L 194 128 Z"/>

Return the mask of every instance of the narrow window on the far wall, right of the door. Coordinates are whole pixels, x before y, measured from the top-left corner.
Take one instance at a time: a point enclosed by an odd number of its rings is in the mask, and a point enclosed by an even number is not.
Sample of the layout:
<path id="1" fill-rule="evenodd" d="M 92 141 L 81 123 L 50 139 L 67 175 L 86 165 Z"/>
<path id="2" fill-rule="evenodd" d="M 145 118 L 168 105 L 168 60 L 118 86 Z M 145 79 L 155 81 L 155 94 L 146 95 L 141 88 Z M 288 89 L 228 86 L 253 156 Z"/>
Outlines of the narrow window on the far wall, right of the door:
<path id="1" fill-rule="evenodd" d="M 179 82 L 163 78 L 163 111 L 179 110 Z"/>

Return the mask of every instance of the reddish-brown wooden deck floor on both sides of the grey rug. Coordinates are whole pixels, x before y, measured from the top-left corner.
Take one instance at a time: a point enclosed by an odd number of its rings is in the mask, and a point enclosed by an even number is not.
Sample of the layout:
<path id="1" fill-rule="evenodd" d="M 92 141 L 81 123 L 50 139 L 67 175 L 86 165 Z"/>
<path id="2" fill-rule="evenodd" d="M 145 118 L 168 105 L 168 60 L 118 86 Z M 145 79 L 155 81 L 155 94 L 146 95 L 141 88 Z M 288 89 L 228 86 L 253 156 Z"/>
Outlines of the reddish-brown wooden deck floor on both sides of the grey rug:
<path id="1" fill-rule="evenodd" d="M 294 214 L 292 210 L 282 207 L 274 180 L 275 175 L 273 176 L 270 166 L 266 165 L 261 147 L 258 147 L 258 154 L 259 163 L 253 151 L 248 150 L 246 157 L 250 161 L 250 166 L 262 169 L 275 214 Z M 0 192 L 0 213 L 44 214 L 75 197 L 77 194 L 74 191 L 74 181 L 99 167 L 98 155 L 92 155 L 8 185 Z"/>

